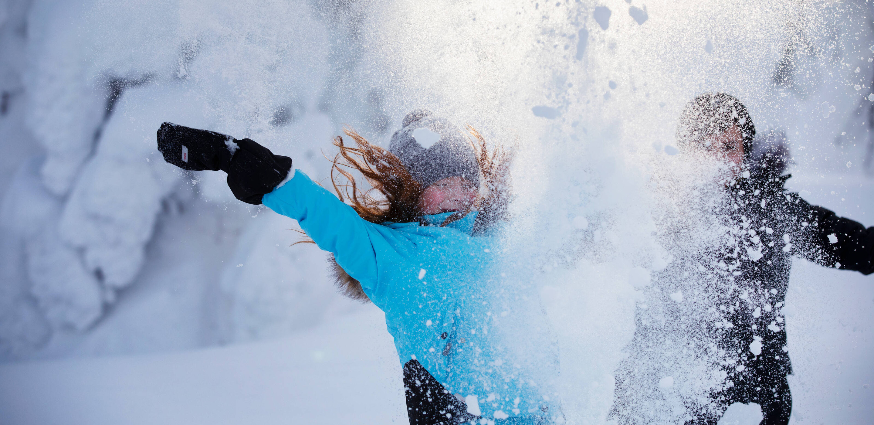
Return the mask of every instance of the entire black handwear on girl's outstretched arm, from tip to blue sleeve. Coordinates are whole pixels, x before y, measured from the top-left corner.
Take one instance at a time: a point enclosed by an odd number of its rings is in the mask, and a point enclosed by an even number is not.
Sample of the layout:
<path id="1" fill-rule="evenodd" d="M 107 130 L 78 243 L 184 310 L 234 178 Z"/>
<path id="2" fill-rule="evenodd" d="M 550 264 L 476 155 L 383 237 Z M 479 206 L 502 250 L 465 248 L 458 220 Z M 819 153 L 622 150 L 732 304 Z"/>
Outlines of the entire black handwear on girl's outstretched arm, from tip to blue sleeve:
<path id="1" fill-rule="evenodd" d="M 171 122 L 161 124 L 157 137 L 164 161 L 184 170 L 225 171 L 233 196 L 256 206 L 291 171 L 291 158 L 274 155 L 251 139 L 236 140 Z"/>

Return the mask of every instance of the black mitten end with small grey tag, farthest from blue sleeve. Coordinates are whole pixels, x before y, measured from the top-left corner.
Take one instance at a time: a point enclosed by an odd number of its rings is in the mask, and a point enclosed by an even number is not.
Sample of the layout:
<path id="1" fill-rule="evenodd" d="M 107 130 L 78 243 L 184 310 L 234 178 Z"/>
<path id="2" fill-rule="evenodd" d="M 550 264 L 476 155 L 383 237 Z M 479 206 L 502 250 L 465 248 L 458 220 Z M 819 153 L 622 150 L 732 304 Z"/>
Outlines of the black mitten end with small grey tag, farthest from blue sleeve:
<path id="1" fill-rule="evenodd" d="M 183 170 L 225 170 L 237 149 L 231 136 L 172 122 L 161 124 L 157 136 L 164 161 Z"/>

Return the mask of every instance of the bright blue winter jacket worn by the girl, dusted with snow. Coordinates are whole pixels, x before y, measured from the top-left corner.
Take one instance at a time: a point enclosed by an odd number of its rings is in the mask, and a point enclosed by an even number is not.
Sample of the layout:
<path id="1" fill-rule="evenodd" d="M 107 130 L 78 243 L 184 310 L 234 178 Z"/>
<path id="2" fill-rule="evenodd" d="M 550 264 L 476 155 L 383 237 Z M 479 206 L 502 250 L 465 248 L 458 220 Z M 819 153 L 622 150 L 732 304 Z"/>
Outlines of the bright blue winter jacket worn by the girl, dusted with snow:
<path id="1" fill-rule="evenodd" d="M 475 212 L 439 226 L 449 212 L 418 222 L 381 225 L 316 185 L 302 171 L 263 198 L 274 212 L 296 219 L 318 247 L 361 282 L 385 311 L 401 364 L 419 360 L 453 394 L 476 397 L 484 417 L 538 415 L 549 403 L 520 366 L 499 331 L 496 239 L 471 236 Z M 497 412 L 497 413 L 496 413 Z"/>

